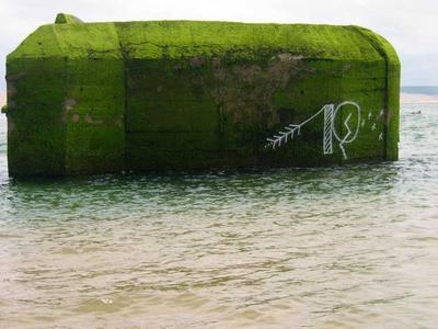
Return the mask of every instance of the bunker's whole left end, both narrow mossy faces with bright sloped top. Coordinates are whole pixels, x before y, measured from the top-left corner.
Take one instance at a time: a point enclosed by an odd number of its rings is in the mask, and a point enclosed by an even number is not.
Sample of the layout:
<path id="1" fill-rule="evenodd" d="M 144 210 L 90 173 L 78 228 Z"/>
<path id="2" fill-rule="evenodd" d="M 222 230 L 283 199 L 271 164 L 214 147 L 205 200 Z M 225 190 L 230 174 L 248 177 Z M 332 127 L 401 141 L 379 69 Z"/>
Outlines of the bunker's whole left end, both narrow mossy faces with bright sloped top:
<path id="1" fill-rule="evenodd" d="M 125 168 L 124 63 L 114 24 L 41 26 L 8 58 L 11 175 Z"/>

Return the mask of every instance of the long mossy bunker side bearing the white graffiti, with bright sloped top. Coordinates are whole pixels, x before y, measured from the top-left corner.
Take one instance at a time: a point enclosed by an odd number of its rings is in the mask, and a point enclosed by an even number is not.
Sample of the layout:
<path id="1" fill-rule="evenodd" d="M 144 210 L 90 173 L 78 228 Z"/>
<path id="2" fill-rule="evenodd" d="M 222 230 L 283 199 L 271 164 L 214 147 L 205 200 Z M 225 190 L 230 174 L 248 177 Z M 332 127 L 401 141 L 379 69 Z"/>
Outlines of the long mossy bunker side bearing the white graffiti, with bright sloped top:
<path id="1" fill-rule="evenodd" d="M 321 166 L 384 159 L 387 61 L 368 37 L 349 26 L 280 26 L 285 30 L 279 32 L 276 26 L 211 25 L 117 25 L 125 56 L 128 169 Z M 209 35 L 212 32 L 217 38 Z M 223 44 L 223 35 L 231 32 Z M 269 45 L 269 37 L 278 44 Z M 184 38 L 186 43 L 181 44 L 178 39 Z M 295 39 L 302 44 L 296 45 Z M 348 44 L 360 53 L 347 49 Z M 324 154 L 323 114 L 280 148 L 266 147 L 266 138 L 289 124 L 304 122 L 324 104 L 344 101 L 359 104 L 361 111 L 360 117 L 349 118 L 354 107 L 338 112 L 334 125 L 343 137 L 348 134 L 347 120 L 351 128 L 360 124 L 357 138 L 345 144 L 344 150 L 334 140 L 333 152 Z"/>

